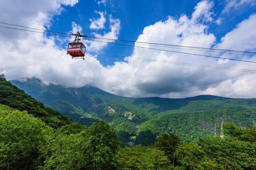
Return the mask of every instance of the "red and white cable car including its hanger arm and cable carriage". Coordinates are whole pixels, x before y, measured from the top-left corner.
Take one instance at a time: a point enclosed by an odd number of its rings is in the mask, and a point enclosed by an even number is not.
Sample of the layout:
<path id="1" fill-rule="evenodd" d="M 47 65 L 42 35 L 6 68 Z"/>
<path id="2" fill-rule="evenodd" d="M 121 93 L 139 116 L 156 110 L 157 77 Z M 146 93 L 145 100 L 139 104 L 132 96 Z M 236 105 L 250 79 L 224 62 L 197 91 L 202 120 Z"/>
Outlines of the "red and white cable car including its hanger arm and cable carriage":
<path id="1" fill-rule="evenodd" d="M 79 32 L 77 32 L 77 34 L 72 34 L 72 35 L 75 35 L 76 38 L 74 42 L 70 42 L 68 44 L 67 54 L 71 55 L 72 58 L 84 60 L 86 47 L 82 42 L 79 42 L 80 40 L 79 37 L 87 37 L 87 36 L 82 35 Z"/>

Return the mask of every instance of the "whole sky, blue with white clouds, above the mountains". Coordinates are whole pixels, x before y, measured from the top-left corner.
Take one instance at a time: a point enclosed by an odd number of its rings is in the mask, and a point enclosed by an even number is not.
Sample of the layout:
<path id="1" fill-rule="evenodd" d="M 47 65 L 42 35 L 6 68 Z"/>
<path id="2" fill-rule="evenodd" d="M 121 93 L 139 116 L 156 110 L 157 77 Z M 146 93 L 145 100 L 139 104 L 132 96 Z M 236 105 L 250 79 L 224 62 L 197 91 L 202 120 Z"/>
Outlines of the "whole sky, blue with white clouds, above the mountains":
<path id="1" fill-rule="evenodd" d="M 63 33 L 80 31 L 92 37 L 256 52 L 256 0 L 9 0 L 0 1 L 0 21 Z M 128 57 L 122 60 L 87 52 L 85 60 L 77 60 L 66 55 L 66 50 L 2 40 L 63 48 L 73 40 L 1 28 L 0 73 L 8 80 L 37 77 L 45 84 L 89 85 L 127 97 L 256 96 L 256 73 L 136 58 L 247 70 L 256 70 L 255 63 L 84 40 L 87 51 Z M 193 53 L 256 62 L 256 56 Z"/>

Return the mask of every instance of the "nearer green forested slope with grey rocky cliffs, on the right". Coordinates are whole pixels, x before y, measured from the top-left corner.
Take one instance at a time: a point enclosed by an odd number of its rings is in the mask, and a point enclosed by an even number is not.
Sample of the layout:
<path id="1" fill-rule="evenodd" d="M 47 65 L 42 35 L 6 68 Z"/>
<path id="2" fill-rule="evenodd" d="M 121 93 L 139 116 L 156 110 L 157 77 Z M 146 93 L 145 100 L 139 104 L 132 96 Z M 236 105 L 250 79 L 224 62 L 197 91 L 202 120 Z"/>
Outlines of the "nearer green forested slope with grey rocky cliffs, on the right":
<path id="1" fill-rule="evenodd" d="M 245 106 L 229 106 L 204 112 L 170 113 L 146 121 L 138 128 L 141 131 L 152 131 L 155 135 L 172 132 L 183 141 L 195 142 L 203 136 L 221 135 L 224 123 L 233 122 L 245 128 L 255 125 L 256 109 Z"/>

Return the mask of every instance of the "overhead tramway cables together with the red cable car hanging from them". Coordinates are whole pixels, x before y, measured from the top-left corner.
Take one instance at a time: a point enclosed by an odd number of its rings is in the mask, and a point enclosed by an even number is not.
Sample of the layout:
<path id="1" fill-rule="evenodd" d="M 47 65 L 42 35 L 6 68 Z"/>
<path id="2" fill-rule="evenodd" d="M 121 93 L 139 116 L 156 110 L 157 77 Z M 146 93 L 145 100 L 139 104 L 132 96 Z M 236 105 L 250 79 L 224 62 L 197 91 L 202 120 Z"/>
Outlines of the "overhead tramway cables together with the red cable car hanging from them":
<path id="1" fill-rule="evenodd" d="M 229 49 L 204 48 L 204 47 L 196 47 L 196 46 L 182 46 L 182 45 L 174 45 L 174 44 L 161 44 L 161 43 L 152 43 L 152 42 L 137 42 L 137 41 L 129 41 L 129 40 L 116 40 L 116 39 L 108 39 L 108 38 L 101 38 L 101 37 L 87 37 L 86 35 L 82 35 L 79 32 L 77 32 L 76 34 L 67 34 L 67 33 L 51 31 L 51 30 L 31 28 L 31 27 L 25 27 L 25 26 L 2 23 L 2 22 L 0 22 L 0 24 L 15 26 L 15 27 L 6 27 L 6 26 L 1 26 L 0 25 L 1 29 L 29 31 L 29 32 L 56 35 L 56 36 L 63 36 L 63 37 L 76 36 L 75 41 L 70 42 L 68 44 L 68 48 L 67 48 L 67 54 L 70 54 L 72 56 L 72 58 L 76 58 L 76 59 L 83 59 L 84 60 L 86 47 L 82 42 L 79 42 L 80 41 L 79 38 L 80 37 L 85 37 L 84 40 L 88 40 L 88 41 L 103 42 L 103 43 L 138 47 L 138 48 L 151 49 L 151 50 L 160 50 L 160 51 L 166 51 L 166 52 L 183 53 L 183 54 L 190 54 L 190 55 L 196 55 L 196 56 L 202 56 L 202 57 L 211 57 L 211 58 L 218 58 L 218 59 L 228 59 L 228 60 L 233 60 L 233 61 L 243 61 L 243 62 L 248 62 L 248 63 L 256 63 L 256 61 L 251 61 L 251 60 L 226 58 L 226 57 L 222 57 L 222 56 L 211 56 L 211 55 L 204 55 L 204 54 L 198 54 L 198 53 L 190 53 L 190 52 L 186 52 L 186 51 L 184 51 L 184 52 L 183 51 L 172 51 L 172 50 L 167 50 L 166 48 L 179 48 L 179 49 L 186 49 L 186 50 L 226 53 L 226 54 L 233 54 L 233 55 L 246 55 L 246 56 L 249 56 L 249 57 L 256 55 L 256 52 L 253 52 L 253 51 L 239 51 L 239 50 L 229 50 Z M 22 27 L 22 28 L 16 28 L 16 27 Z M 100 39 L 100 41 L 95 40 L 95 39 Z M 7 40 L 0 39 L 0 41 L 7 41 Z M 114 41 L 114 42 L 112 42 L 112 41 Z M 7 42 L 24 44 L 23 42 L 14 42 L 14 41 L 10 41 L 10 40 L 8 40 Z M 116 42 L 119 42 L 119 43 L 116 43 Z M 134 43 L 134 44 L 129 45 L 129 44 L 126 44 L 126 43 Z M 143 44 L 147 44 L 147 45 L 150 45 L 150 46 L 165 47 L 165 48 L 163 49 L 163 48 L 151 48 L 151 47 L 141 46 Z M 33 46 L 43 47 L 42 45 L 31 44 L 31 43 L 26 43 L 26 45 L 33 45 Z M 44 47 L 46 47 L 46 46 L 44 45 Z M 49 47 L 47 47 L 47 48 L 49 48 Z M 89 51 L 87 51 L 87 52 L 89 52 Z M 89 52 L 89 53 L 92 53 L 92 52 Z M 111 57 L 116 57 L 116 58 L 118 58 L 118 57 L 119 58 L 126 58 L 126 56 L 109 55 L 109 54 L 106 55 L 106 54 L 102 54 L 102 53 L 99 53 L 97 55 L 111 56 Z M 148 59 L 148 58 L 135 58 L 135 57 L 129 57 L 129 58 L 130 59 L 135 59 L 135 60 L 149 61 L 149 62 L 161 62 L 161 63 L 168 63 L 168 64 L 187 65 L 187 66 L 205 67 L 205 68 L 214 68 L 214 69 L 223 69 L 223 70 L 227 69 L 227 70 L 232 70 L 232 71 L 243 71 L 243 72 L 253 72 L 253 73 L 255 73 L 255 70 L 245 70 L 245 69 L 239 69 L 239 68 L 218 67 L 218 66 L 211 66 L 211 65 L 200 65 L 200 64 L 181 63 L 181 62 L 179 63 L 179 62 L 174 62 L 174 61 L 152 60 L 152 59 Z"/>

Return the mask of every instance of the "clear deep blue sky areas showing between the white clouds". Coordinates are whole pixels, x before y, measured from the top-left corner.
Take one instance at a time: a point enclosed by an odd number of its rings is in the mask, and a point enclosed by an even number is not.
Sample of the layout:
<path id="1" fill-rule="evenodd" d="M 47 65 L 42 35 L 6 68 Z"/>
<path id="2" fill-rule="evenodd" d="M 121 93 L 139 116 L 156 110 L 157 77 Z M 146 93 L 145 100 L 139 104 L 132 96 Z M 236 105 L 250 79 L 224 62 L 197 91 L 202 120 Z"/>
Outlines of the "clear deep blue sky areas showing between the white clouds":
<path id="1" fill-rule="evenodd" d="M 57 15 L 53 18 L 51 30 L 68 32 L 70 31 L 72 22 L 75 22 L 82 27 L 82 33 L 85 35 L 93 36 L 91 35 L 92 32 L 103 34 L 103 32 L 110 31 L 108 17 L 112 15 L 114 19 L 121 21 L 121 30 L 118 39 L 136 41 L 145 27 L 153 25 L 158 21 L 164 21 L 168 16 L 178 19 L 181 15 L 186 14 L 188 17 L 191 17 L 194 7 L 200 1 L 106 0 L 105 4 L 98 4 L 97 2 L 100 1 L 79 1 L 75 6 L 66 6 L 61 15 Z M 239 1 L 236 3 L 239 3 Z M 221 24 L 215 22 L 209 23 L 208 32 L 215 35 L 216 43 L 218 43 L 221 37 L 226 33 L 234 29 L 238 23 L 256 12 L 255 6 L 252 6 L 252 3 L 253 1 L 245 3 L 239 8 L 232 7 L 228 12 L 223 13 L 222 11 L 227 6 L 228 1 L 214 1 L 214 7 L 212 9 L 214 15 L 212 17 L 215 20 L 221 18 Z M 105 13 L 107 19 L 105 28 L 99 30 L 90 29 L 90 19 L 100 17 L 95 11 Z M 154 42 L 154 40 L 151 40 L 151 42 Z M 191 46 L 193 46 L 193 44 L 191 44 Z M 63 45 L 63 47 L 66 46 Z M 87 49 L 90 50 L 89 48 Z M 101 50 L 102 53 L 125 56 L 131 55 L 132 51 L 132 47 L 120 45 L 109 45 Z M 120 58 L 103 56 L 98 57 L 98 59 L 105 66 L 113 65 L 114 61 L 120 60 Z"/>

